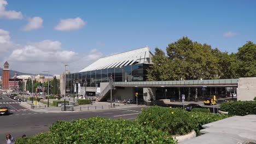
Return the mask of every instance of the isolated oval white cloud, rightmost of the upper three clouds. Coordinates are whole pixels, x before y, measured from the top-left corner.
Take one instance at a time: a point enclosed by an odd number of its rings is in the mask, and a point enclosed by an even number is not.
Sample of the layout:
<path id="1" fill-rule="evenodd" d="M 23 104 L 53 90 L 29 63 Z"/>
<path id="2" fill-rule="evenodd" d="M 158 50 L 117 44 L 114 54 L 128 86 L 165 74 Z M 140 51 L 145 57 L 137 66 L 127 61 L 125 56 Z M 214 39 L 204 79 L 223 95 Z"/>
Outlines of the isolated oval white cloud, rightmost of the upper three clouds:
<path id="1" fill-rule="evenodd" d="M 57 31 L 72 31 L 82 28 L 84 25 L 86 25 L 86 21 L 83 21 L 80 19 L 80 17 L 77 17 L 75 19 L 65 19 L 61 20 L 58 25 L 55 27 L 55 30 Z"/>

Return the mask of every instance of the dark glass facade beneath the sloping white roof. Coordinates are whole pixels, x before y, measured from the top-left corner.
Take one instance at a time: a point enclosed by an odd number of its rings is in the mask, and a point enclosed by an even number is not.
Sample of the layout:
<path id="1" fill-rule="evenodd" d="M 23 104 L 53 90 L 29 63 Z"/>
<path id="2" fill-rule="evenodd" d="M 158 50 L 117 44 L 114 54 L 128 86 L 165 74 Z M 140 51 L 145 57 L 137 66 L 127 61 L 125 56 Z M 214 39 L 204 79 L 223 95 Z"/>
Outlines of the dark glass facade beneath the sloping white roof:
<path id="1" fill-rule="evenodd" d="M 66 91 L 74 93 L 75 83 L 83 87 L 100 87 L 101 82 L 109 82 L 112 75 L 114 82 L 146 81 L 149 64 L 126 65 L 122 68 L 92 70 L 66 75 Z"/>

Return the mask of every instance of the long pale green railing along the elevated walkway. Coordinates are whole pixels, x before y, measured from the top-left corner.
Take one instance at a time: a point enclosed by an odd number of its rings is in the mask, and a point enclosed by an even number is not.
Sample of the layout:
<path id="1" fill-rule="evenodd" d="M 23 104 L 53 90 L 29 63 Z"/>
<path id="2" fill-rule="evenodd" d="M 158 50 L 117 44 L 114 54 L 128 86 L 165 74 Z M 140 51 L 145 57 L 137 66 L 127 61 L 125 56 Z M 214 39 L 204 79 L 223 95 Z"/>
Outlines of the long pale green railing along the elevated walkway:
<path id="1" fill-rule="evenodd" d="M 114 82 L 114 86 L 202 86 L 202 85 L 237 86 L 237 81 L 238 79 Z"/>

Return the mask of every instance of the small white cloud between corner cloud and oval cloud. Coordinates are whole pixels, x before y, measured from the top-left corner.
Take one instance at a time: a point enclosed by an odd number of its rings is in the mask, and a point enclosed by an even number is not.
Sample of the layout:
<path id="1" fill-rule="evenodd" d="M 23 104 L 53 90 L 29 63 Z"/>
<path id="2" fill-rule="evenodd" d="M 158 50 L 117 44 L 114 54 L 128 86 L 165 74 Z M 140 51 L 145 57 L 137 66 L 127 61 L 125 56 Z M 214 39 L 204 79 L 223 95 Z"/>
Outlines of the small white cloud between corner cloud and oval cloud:
<path id="1" fill-rule="evenodd" d="M 41 17 L 28 18 L 27 25 L 22 28 L 23 31 L 32 31 L 34 29 L 42 28 L 43 19 Z"/>

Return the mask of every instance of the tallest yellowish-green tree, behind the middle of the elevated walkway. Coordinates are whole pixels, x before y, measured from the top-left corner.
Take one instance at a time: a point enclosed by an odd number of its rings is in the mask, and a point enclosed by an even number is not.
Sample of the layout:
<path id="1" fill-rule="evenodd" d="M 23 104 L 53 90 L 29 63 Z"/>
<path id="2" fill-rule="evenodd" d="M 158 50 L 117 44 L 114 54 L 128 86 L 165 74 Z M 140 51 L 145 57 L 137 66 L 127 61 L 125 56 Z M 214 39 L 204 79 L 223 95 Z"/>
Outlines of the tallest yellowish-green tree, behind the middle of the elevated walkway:
<path id="1" fill-rule="evenodd" d="M 217 79 L 218 58 L 210 45 L 200 44 L 183 37 L 166 48 L 167 56 L 174 67 L 172 80 Z"/>

